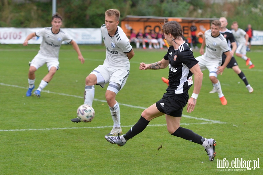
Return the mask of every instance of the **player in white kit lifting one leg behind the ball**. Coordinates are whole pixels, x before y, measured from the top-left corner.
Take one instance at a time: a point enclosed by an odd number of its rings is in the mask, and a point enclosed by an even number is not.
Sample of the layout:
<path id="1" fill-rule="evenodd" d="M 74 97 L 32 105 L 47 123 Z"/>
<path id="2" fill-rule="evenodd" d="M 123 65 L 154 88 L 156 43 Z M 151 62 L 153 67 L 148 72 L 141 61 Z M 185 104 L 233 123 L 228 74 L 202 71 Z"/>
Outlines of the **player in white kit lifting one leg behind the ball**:
<path id="1" fill-rule="evenodd" d="M 103 65 L 96 67 L 86 77 L 84 104 L 92 106 L 95 94 L 95 84 L 104 87 L 109 83 L 105 97 L 110 108 L 113 119 L 113 129 L 108 135 L 117 136 L 122 133 L 120 126 L 120 107 L 115 100 L 117 93 L 123 88 L 129 76 L 129 60 L 134 56 L 133 48 L 118 26 L 120 11 L 109 9 L 105 12 L 105 24 L 101 26 L 102 38 L 106 47 L 106 58 Z M 78 118 L 71 119 L 72 122 L 80 122 Z"/>

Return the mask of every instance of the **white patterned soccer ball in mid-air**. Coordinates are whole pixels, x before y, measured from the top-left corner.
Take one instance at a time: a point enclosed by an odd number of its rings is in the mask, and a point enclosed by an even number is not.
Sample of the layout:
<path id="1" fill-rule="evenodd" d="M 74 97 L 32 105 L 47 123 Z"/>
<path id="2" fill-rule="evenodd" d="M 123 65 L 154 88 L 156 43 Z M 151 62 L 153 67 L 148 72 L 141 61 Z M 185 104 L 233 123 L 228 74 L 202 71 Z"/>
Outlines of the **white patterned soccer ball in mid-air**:
<path id="1" fill-rule="evenodd" d="M 77 117 L 82 122 L 91 122 L 95 111 L 90 105 L 80 105 L 77 109 Z"/>

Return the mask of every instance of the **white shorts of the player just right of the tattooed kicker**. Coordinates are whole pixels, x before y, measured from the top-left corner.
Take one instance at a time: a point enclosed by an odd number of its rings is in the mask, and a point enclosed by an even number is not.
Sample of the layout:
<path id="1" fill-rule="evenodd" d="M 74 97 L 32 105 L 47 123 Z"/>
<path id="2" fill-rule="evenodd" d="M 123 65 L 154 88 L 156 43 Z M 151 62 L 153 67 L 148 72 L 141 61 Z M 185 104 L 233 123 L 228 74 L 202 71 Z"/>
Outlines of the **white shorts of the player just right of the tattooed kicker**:
<path id="1" fill-rule="evenodd" d="M 217 77 L 217 67 L 222 64 L 222 60 L 207 58 L 204 55 L 198 56 L 195 59 L 199 61 L 198 64 L 202 71 L 208 69 L 209 76 Z"/>

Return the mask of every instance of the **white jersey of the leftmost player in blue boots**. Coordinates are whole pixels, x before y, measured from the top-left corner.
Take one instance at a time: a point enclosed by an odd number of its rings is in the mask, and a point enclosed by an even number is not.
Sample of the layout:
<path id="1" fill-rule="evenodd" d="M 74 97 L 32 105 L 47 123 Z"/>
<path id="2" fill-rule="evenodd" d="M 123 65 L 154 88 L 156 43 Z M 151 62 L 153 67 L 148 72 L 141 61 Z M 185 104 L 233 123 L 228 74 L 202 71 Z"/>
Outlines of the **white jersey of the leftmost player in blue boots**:
<path id="1" fill-rule="evenodd" d="M 70 43 L 72 38 L 61 29 L 57 34 L 54 34 L 51 29 L 52 27 L 45 27 L 35 32 L 37 37 L 43 37 L 40 44 L 40 50 L 38 52 L 46 56 L 58 58 L 62 41 Z"/>

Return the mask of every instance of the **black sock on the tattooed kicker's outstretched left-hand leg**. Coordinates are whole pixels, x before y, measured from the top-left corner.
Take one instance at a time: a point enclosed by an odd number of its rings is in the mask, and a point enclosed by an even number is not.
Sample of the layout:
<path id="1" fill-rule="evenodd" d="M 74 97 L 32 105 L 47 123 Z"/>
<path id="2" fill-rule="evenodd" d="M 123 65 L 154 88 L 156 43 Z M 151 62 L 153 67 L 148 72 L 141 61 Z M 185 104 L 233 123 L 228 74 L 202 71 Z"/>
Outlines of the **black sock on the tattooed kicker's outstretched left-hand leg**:
<path id="1" fill-rule="evenodd" d="M 131 127 L 131 129 L 124 135 L 124 138 L 126 140 L 133 138 L 137 134 L 141 133 L 147 127 L 148 124 L 149 121 L 141 116 L 138 122 L 133 127 Z"/>

